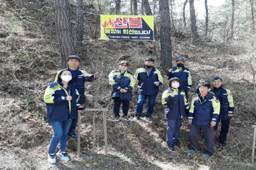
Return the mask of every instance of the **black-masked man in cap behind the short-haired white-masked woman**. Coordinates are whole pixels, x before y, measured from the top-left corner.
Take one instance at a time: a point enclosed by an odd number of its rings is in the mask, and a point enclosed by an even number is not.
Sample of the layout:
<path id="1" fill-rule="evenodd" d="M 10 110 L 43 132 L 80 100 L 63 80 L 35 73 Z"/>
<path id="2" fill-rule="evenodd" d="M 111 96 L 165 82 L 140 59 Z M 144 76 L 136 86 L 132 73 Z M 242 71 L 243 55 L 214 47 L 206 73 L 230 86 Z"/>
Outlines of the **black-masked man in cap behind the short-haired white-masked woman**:
<path id="1" fill-rule="evenodd" d="M 184 58 L 177 58 L 176 59 L 176 67 L 173 67 L 172 69 L 168 69 L 167 77 L 168 79 L 172 77 L 177 77 L 181 80 L 180 88 L 185 92 L 186 100 L 188 100 L 188 92 L 192 86 L 191 81 L 191 74 L 190 70 L 186 67 L 184 67 L 185 59 Z"/>

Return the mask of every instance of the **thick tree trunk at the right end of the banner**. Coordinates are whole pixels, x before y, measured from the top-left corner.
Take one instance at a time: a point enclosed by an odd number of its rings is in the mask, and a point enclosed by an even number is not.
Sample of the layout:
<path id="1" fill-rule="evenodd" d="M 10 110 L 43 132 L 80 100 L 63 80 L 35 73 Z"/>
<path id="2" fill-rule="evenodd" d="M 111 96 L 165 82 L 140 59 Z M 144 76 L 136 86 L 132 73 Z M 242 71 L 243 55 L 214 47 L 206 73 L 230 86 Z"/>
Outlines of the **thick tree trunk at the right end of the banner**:
<path id="1" fill-rule="evenodd" d="M 159 0 L 161 67 L 172 68 L 171 19 L 168 0 Z"/>

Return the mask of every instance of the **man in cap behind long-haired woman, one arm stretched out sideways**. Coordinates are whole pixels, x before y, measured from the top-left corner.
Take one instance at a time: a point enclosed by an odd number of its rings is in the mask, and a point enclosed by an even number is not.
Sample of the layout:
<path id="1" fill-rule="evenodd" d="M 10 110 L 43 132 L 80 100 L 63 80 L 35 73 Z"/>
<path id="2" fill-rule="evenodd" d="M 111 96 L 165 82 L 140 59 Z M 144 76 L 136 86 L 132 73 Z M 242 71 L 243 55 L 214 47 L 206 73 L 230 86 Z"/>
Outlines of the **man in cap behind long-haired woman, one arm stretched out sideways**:
<path id="1" fill-rule="evenodd" d="M 77 55 L 68 56 L 67 64 L 68 64 L 68 68 L 66 68 L 65 70 L 69 70 L 73 75 L 74 83 L 76 83 L 76 89 L 79 92 L 78 102 L 82 105 L 85 103 L 85 95 L 84 95 L 85 82 L 92 82 L 94 80 L 94 74 L 88 74 L 84 70 L 79 69 L 80 58 Z M 57 73 L 55 81 L 57 81 L 58 74 L 60 73 L 60 71 Z M 95 75 L 98 76 L 98 73 L 95 73 Z M 71 136 L 72 138 L 77 138 L 77 135 L 75 133 L 76 124 L 77 124 L 77 120 L 72 120 L 70 130 L 68 131 L 68 136 Z"/>

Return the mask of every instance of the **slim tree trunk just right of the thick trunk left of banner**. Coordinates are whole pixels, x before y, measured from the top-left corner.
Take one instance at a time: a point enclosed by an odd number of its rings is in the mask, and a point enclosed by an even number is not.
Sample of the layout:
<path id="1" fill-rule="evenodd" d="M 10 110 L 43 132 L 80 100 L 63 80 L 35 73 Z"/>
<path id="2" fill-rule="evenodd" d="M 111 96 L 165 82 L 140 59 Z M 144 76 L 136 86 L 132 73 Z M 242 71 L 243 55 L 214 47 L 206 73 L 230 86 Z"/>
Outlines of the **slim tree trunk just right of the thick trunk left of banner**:
<path id="1" fill-rule="evenodd" d="M 83 14 L 83 0 L 76 1 L 76 15 L 77 15 L 77 26 L 76 26 L 76 43 L 82 44 L 84 36 L 84 14 Z"/>

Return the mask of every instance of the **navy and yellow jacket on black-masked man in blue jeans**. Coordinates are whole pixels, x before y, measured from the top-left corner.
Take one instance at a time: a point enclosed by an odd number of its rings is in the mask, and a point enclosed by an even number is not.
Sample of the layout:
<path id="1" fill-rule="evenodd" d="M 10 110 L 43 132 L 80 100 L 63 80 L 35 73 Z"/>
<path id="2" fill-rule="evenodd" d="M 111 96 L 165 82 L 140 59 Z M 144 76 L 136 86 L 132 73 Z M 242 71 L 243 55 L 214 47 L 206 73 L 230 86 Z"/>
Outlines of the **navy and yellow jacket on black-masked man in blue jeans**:
<path id="1" fill-rule="evenodd" d="M 159 70 L 152 68 L 152 71 L 148 74 L 145 66 L 136 70 L 134 79 L 138 84 L 139 95 L 157 95 L 159 86 L 163 84 L 163 78 Z M 159 86 L 156 86 L 154 82 L 158 82 Z"/>

